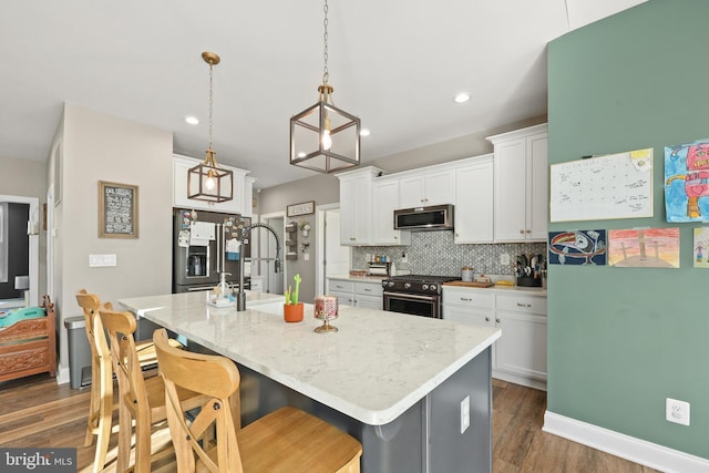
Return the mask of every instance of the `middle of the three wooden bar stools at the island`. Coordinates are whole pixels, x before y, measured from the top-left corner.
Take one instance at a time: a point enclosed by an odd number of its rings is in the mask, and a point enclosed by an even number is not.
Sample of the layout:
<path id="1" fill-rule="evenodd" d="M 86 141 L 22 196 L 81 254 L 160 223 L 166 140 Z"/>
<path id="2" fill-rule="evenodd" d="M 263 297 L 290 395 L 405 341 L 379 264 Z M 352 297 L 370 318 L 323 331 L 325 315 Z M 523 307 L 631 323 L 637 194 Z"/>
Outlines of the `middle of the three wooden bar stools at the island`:
<path id="1" fill-rule="evenodd" d="M 99 357 L 111 359 L 119 380 L 119 453 L 116 471 L 129 469 L 132 435 L 135 434 L 135 462 L 132 470 L 137 473 L 151 471 L 151 434 L 154 424 L 165 422 L 165 385 L 163 378 L 145 378 L 141 369 L 133 333 L 137 327 L 135 316 L 127 311 L 114 311 L 106 307 L 94 313 L 94 343 Z M 105 332 L 104 332 L 105 330 Z M 109 342 L 106 342 L 107 333 Z M 165 341 L 173 350 L 183 351 Z M 207 397 L 178 390 L 175 395 L 187 410 L 207 402 Z"/>

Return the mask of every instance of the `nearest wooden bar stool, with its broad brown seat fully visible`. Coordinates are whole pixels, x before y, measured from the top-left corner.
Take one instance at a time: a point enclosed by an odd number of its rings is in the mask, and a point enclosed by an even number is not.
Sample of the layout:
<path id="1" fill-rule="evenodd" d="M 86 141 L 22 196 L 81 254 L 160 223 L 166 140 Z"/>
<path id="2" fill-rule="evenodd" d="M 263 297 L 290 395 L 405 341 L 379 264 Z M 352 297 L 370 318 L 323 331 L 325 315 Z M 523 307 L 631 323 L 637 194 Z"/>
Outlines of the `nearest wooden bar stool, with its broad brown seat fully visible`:
<path id="1" fill-rule="evenodd" d="M 239 389 L 236 364 L 225 357 L 175 350 L 168 345 L 164 329 L 155 330 L 153 340 L 165 383 L 167 423 L 178 473 L 360 471 L 362 445 L 299 409 L 281 408 L 237 431 L 228 400 Z M 177 395 L 181 388 L 208 395 L 207 403 L 191 424 L 184 415 L 189 407 Z M 216 424 L 216 446 L 203 440 L 212 424 Z"/>

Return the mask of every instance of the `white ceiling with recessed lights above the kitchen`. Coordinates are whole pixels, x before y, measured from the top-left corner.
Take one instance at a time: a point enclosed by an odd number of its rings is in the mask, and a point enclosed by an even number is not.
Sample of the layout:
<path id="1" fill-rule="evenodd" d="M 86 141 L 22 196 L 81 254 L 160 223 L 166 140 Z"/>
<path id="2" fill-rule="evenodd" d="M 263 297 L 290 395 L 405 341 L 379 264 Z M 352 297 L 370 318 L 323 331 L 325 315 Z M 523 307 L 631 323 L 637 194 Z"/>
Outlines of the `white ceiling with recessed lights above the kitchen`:
<path id="1" fill-rule="evenodd" d="M 546 43 L 643 1 L 330 0 L 335 104 L 371 131 L 363 163 L 544 115 Z M 322 23 L 322 0 L 7 0 L 0 156 L 47 160 L 69 102 L 168 130 L 175 153 L 203 158 L 214 51 L 219 163 L 256 188 L 314 175 L 288 164 L 289 119 L 318 99 Z"/>

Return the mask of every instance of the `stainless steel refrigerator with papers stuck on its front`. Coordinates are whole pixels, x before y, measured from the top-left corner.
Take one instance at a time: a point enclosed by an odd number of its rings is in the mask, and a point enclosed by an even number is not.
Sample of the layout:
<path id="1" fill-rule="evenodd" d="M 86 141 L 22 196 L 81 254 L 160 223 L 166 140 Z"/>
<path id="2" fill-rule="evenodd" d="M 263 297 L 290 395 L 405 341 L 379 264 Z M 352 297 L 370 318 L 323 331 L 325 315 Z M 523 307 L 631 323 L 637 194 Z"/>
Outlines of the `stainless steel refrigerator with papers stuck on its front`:
<path id="1" fill-rule="evenodd" d="M 214 212 L 175 209 L 173 213 L 173 292 L 210 289 L 227 273 L 227 282 L 238 288 L 239 260 L 250 259 L 248 239 L 237 254 L 226 253 L 226 240 L 242 240 L 250 218 Z M 244 288 L 249 289 L 245 277 Z"/>

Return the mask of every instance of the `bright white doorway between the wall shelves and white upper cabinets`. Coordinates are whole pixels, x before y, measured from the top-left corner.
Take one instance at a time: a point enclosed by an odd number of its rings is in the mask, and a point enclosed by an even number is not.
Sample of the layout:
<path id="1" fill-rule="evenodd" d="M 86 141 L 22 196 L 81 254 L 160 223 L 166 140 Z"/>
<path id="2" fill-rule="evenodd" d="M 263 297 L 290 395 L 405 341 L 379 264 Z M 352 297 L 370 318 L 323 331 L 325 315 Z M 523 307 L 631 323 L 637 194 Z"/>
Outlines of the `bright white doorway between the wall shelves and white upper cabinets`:
<path id="1" fill-rule="evenodd" d="M 316 238 L 318 261 L 316 266 L 316 292 L 327 294 L 327 278 L 342 276 L 351 267 L 351 249 L 340 245 L 340 205 L 328 204 L 317 208 Z"/>

